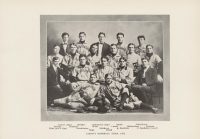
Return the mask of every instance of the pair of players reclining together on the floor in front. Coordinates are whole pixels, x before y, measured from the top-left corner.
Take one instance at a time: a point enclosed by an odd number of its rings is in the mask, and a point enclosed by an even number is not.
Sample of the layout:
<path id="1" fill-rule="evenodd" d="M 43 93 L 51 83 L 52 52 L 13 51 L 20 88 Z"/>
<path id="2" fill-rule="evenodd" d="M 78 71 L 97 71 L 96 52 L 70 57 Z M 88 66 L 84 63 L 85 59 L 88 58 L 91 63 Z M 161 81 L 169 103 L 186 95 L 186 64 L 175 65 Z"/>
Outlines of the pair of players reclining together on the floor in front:
<path id="1" fill-rule="evenodd" d="M 72 83 L 73 92 L 67 97 L 55 99 L 54 105 L 75 109 L 76 112 L 105 113 L 109 112 L 111 107 L 117 108 L 118 111 L 145 108 L 157 112 L 157 108 L 143 103 L 132 92 L 129 95 L 126 84 L 113 81 L 112 74 L 105 75 L 106 82 L 102 86 L 96 81 L 96 75 L 91 74 L 89 82 Z"/>

